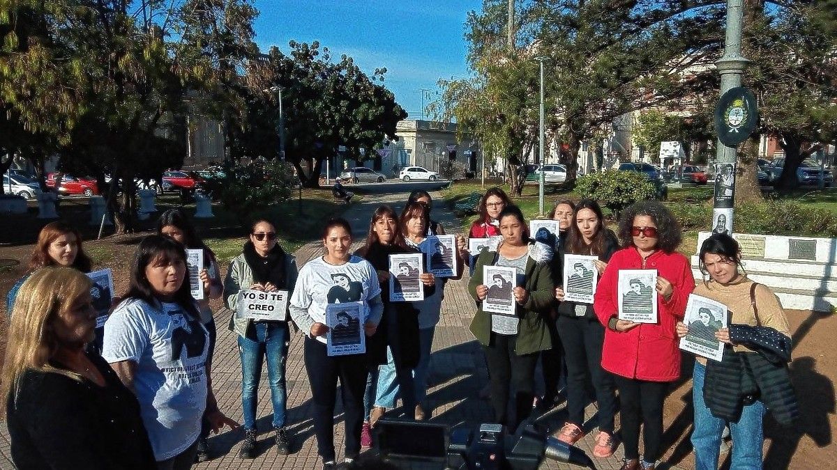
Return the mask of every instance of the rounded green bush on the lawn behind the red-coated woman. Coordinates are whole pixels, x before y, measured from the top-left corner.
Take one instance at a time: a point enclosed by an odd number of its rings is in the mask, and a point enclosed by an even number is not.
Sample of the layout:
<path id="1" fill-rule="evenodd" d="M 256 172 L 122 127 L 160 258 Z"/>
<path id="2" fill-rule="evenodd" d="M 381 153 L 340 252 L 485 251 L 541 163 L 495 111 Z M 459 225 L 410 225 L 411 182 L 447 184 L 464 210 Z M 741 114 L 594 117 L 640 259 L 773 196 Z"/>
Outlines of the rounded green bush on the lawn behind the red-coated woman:
<path id="1" fill-rule="evenodd" d="M 576 192 L 619 215 L 622 209 L 634 202 L 651 199 L 657 190 L 653 183 L 639 171 L 608 170 L 590 173 L 578 178 Z"/>

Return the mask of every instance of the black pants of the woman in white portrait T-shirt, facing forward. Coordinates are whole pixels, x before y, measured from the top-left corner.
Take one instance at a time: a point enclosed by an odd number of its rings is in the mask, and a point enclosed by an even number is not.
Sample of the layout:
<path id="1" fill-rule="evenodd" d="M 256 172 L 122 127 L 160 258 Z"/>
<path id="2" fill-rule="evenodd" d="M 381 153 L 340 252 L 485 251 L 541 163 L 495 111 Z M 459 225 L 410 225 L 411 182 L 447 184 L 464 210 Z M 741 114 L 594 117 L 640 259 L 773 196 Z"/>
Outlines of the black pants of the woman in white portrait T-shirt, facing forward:
<path id="1" fill-rule="evenodd" d="M 340 379 L 343 416 L 346 425 L 346 457 L 357 457 L 361 450 L 363 391 L 366 390 L 367 364 L 362 355 L 329 357 L 326 345 L 306 337 L 305 362 L 311 382 L 314 433 L 317 453 L 323 462 L 333 461 L 334 405 L 337 379 Z"/>

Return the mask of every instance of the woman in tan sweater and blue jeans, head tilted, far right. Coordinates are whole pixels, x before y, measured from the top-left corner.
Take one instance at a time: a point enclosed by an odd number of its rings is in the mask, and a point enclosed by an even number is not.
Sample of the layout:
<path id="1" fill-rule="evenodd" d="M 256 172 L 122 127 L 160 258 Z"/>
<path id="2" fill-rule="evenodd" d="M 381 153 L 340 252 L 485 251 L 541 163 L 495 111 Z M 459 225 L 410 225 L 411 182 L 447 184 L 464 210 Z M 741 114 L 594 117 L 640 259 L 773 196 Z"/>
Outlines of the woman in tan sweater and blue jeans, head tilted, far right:
<path id="1" fill-rule="evenodd" d="M 755 299 L 758 319 L 763 326 L 773 328 L 779 333 L 790 336 L 788 319 L 782 309 L 782 304 L 776 294 L 763 284 L 755 284 L 743 273 L 741 265 L 741 249 L 734 238 L 727 234 L 712 235 L 701 245 L 700 252 L 701 273 L 709 274 L 709 280 L 704 278 L 695 288 L 696 295 L 702 295 L 727 305 L 730 312 L 729 323 L 756 325 L 756 310 L 751 304 Z M 677 324 L 677 335 L 686 336 L 691 330 L 682 322 Z M 714 334 L 714 339 L 725 344 L 725 359 L 742 357 L 749 359 L 757 354 L 754 350 L 738 345 L 730 335 L 731 329 L 721 328 Z M 789 342 L 789 340 L 788 340 Z M 691 434 L 691 443 L 695 447 L 695 468 L 698 470 L 716 469 L 718 454 L 721 446 L 721 435 L 727 421 L 713 416 L 707 406 L 704 396 L 705 379 L 707 377 L 706 359 L 701 356 L 695 358 L 695 370 L 692 375 L 694 391 L 692 398 L 695 407 L 695 425 Z M 774 410 L 775 412 L 775 410 Z M 761 468 L 762 447 L 764 434 L 762 419 L 765 404 L 762 399 L 741 404 L 741 414 L 737 421 L 729 422 L 732 433 L 732 462 L 734 469 Z"/>

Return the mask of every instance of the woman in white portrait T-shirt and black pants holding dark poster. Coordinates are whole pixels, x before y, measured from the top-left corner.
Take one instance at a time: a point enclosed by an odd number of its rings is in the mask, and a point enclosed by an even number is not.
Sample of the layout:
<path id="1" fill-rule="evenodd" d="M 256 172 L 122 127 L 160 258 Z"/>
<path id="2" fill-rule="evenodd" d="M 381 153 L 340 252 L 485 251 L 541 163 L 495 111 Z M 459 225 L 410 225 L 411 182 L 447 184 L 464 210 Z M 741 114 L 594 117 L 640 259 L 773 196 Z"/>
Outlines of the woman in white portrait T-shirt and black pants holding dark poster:
<path id="1" fill-rule="evenodd" d="M 334 405 L 337 379 L 341 383 L 341 396 L 346 423 L 346 462 L 357 458 L 361 450 L 363 424 L 363 392 L 367 382 L 367 364 L 357 355 L 328 355 L 326 349 L 326 309 L 329 291 L 334 287 L 333 277 L 341 274 L 361 285 L 361 290 L 347 302 L 360 302 L 367 312 L 364 330 L 372 336 L 383 314 L 381 288 L 377 273 L 367 260 L 353 256 L 352 227 L 346 219 L 331 219 L 322 232 L 326 254 L 314 258 L 300 269 L 294 294 L 290 298 L 290 314 L 295 324 L 306 335 L 305 363 L 311 395 L 314 401 L 313 419 L 317 453 L 323 469 L 336 467 L 334 449 Z M 339 303 L 343 303 L 342 300 Z"/>

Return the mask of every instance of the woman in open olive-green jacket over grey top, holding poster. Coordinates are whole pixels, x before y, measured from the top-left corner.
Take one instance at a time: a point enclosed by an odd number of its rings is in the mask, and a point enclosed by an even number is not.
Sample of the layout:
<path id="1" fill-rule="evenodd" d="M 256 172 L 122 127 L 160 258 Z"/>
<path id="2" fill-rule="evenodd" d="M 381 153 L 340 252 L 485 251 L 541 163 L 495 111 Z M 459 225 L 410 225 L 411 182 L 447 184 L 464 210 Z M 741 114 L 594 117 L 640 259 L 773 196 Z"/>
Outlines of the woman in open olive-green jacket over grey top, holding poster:
<path id="1" fill-rule="evenodd" d="M 468 290 L 479 305 L 470 324 L 485 351 L 491 371 L 491 403 L 495 420 L 514 432 L 529 416 L 535 388 L 535 365 L 542 350 L 552 347 L 547 321 L 552 308 L 552 247 L 532 242 L 523 213 L 516 206 L 503 209 L 497 218 L 503 236 L 496 251 L 483 250 L 477 258 L 474 276 Z M 482 309 L 489 294 L 483 279 L 484 266 L 514 268 L 517 287 L 514 316 L 490 314 Z M 509 419 L 506 407 L 514 396 L 515 419 Z"/>

